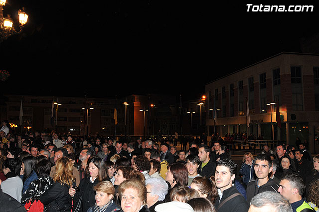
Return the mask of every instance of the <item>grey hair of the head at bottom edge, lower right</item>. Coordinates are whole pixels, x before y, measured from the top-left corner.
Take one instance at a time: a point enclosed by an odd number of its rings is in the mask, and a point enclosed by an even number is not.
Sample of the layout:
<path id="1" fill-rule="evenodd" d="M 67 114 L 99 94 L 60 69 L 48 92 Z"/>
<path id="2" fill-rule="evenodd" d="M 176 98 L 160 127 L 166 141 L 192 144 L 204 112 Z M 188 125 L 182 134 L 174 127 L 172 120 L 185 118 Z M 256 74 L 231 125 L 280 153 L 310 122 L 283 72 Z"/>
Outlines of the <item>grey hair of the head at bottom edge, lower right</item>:
<path id="1" fill-rule="evenodd" d="M 250 202 L 251 206 L 262 208 L 264 206 L 271 206 L 274 208 L 273 212 L 293 212 L 293 209 L 282 195 L 277 192 L 262 192 L 253 197 Z"/>

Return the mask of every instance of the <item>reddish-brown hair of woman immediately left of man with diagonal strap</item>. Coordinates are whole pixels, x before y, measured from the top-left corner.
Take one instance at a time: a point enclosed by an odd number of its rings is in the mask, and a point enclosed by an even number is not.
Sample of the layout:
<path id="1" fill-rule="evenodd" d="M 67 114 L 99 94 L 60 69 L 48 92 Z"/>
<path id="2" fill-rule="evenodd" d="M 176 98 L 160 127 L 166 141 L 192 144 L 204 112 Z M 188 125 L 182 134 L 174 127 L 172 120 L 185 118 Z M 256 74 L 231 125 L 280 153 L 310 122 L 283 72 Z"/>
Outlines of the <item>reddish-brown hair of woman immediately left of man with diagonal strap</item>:
<path id="1" fill-rule="evenodd" d="M 201 195 L 206 194 L 207 199 L 212 203 L 215 203 L 215 199 L 218 197 L 217 188 L 215 185 L 215 178 L 212 176 L 210 178 L 196 177 L 192 181 L 193 184 L 196 184 L 198 191 Z"/>

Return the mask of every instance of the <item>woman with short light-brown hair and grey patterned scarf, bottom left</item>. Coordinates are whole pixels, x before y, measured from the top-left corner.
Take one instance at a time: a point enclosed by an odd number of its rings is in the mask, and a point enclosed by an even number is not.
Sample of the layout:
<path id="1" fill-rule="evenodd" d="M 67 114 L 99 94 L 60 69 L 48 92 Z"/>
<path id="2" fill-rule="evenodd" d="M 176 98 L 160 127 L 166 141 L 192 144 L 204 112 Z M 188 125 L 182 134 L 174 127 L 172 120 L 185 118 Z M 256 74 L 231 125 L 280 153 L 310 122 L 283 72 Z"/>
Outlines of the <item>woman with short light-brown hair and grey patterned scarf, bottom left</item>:
<path id="1" fill-rule="evenodd" d="M 110 181 L 100 182 L 93 189 L 96 192 L 96 202 L 87 212 L 113 212 L 120 210 L 113 201 L 115 190 Z"/>

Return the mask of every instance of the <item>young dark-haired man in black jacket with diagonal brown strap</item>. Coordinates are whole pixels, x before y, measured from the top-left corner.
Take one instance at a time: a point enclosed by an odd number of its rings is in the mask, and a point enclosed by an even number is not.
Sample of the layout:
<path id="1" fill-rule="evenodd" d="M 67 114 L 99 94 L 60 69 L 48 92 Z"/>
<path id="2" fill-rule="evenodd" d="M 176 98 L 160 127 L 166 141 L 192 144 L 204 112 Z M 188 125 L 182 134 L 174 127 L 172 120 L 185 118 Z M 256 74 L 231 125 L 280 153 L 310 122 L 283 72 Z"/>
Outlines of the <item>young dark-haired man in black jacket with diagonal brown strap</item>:
<path id="1" fill-rule="evenodd" d="M 215 200 L 217 212 L 247 212 L 249 204 L 238 192 L 233 181 L 236 177 L 237 164 L 230 159 L 217 162 L 215 183 L 218 197 Z"/>

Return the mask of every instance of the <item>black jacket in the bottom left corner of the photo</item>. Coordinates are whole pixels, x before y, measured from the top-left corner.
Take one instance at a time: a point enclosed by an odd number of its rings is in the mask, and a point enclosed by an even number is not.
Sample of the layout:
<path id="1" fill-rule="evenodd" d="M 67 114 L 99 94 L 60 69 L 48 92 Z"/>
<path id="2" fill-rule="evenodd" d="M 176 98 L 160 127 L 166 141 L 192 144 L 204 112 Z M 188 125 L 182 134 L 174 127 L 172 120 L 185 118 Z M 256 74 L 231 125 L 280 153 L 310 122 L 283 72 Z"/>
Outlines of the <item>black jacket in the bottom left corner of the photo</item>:
<path id="1" fill-rule="evenodd" d="M 17 200 L 0 189 L 0 212 L 26 212 L 26 210 Z"/>

